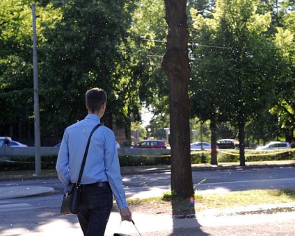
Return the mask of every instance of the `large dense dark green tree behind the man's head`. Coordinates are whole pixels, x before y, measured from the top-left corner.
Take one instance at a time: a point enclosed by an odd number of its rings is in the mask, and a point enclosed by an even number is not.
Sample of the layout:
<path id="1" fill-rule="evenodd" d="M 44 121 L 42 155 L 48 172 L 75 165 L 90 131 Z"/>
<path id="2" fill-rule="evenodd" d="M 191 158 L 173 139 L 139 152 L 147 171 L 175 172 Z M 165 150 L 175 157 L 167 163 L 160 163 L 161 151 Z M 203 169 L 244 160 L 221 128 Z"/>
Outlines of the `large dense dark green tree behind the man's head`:
<path id="1" fill-rule="evenodd" d="M 45 31 L 47 44 L 40 56 L 40 99 L 48 132 L 63 130 L 60 126 L 86 115 L 83 94 L 89 87 L 102 87 L 109 94 L 104 124 L 112 127 L 115 117 L 123 122 L 120 117 L 129 115 L 126 97 L 120 96 L 120 81 L 128 60 L 122 42 L 130 22 L 130 5 L 129 1 L 78 0 L 61 6 L 63 17 L 55 28 Z M 56 101 L 56 96 L 61 99 Z"/>

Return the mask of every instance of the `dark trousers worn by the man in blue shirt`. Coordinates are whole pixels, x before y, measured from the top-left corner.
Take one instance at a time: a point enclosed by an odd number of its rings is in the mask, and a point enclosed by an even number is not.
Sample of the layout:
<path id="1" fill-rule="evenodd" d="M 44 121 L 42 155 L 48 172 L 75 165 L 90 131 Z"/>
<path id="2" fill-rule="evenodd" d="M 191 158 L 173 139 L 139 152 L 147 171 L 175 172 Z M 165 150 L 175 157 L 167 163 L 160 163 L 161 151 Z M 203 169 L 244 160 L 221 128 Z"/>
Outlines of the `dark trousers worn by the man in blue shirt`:
<path id="1" fill-rule="evenodd" d="M 111 209 L 113 193 L 109 185 L 104 187 L 83 187 L 77 214 L 83 234 L 104 236 Z"/>

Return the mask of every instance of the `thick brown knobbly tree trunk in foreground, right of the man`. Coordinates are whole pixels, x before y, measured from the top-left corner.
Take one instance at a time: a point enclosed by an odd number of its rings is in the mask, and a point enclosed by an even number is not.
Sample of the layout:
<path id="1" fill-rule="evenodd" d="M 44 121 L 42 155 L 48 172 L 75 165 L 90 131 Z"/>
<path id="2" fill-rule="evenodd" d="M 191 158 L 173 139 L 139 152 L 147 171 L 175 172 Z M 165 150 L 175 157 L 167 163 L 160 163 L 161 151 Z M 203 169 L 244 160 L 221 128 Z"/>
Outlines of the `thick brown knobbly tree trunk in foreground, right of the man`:
<path id="1" fill-rule="evenodd" d="M 168 36 L 162 68 L 168 76 L 171 144 L 171 188 L 193 196 L 189 137 L 189 66 L 186 0 L 165 0 Z"/>

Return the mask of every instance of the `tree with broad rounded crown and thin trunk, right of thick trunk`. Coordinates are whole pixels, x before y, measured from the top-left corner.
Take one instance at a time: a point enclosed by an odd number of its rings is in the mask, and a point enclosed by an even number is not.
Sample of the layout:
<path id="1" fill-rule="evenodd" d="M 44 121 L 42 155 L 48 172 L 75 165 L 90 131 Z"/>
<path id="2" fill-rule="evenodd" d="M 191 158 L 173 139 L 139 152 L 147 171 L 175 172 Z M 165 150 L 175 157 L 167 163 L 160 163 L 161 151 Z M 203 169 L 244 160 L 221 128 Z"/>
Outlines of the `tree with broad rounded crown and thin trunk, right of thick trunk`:
<path id="1" fill-rule="evenodd" d="M 206 46 L 200 47 L 195 56 L 200 59 L 196 62 L 196 76 L 200 75 L 199 83 L 205 83 L 215 99 L 207 96 L 207 101 L 202 99 L 200 94 L 204 90 L 199 90 L 198 97 L 217 117 L 237 124 L 241 166 L 245 165 L 246 121 L 264 110 L 276 92 L 276 49 L 265 33 L 271 14 L 260 14 L 258 6 L 256 0 L 217 0 L 212 19 L 198 14 L 194 23 L 194 27 L 204 32 L 196 35 L 196 39 Z"/>

